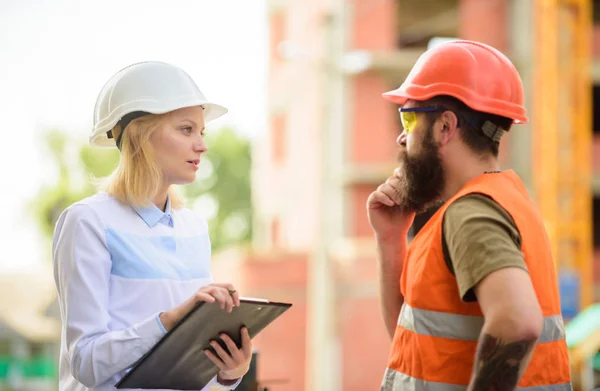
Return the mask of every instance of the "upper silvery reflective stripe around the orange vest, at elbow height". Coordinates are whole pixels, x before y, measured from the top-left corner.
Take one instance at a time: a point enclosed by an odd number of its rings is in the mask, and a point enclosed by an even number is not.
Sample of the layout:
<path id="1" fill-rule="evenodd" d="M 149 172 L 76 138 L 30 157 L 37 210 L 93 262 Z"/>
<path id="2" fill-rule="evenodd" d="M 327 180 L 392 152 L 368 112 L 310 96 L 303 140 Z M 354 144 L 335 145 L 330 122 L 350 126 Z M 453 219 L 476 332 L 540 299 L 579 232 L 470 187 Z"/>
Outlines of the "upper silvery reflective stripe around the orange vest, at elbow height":
<path id="1" fill-rule="evenodd" d="M 398 317 L 398 325 L 421 335 L 478 341 L 483 328 L 483 317 L 422 310 L 404 303 Z M 563 339 L 565 339 L 565 328 L 562 316 L 544 317 L 544 327 L 537 343 Z"/>

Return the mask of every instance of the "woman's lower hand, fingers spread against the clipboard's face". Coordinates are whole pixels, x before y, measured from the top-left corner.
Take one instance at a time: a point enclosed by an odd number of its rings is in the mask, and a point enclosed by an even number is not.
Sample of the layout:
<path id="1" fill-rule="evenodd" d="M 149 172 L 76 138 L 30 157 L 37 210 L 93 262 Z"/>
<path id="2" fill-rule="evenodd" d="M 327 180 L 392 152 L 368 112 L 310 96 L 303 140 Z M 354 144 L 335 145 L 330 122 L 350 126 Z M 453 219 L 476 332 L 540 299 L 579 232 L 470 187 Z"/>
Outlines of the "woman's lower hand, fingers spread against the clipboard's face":
<path id="1" fill-rule="evenodd" d="M 252 341 L 248 334 L 248 329 L 243 327 L 241 330 L 242 347 L 238 349 L 235 342 L 226 334 L 221 334 L 221 339 L 225 342 L 227 350 L 223 349 L 217 341 L 210 344 L 217 352 L 215 356 L 211 351 L 205 350 L 206 356 L 220 369 L 217 381 L 223 385 L 233 384 L 240 377 L 244 376 L 250 369 L 252 361 Z"/>

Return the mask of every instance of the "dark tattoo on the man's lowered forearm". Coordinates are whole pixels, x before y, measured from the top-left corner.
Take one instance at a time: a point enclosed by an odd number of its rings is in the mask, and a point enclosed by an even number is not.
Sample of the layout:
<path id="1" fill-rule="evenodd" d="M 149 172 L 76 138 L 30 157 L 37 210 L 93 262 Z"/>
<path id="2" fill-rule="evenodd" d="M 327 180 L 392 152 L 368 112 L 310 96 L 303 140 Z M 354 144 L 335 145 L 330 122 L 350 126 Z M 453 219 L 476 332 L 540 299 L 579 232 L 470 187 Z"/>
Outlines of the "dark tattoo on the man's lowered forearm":
<path id="1" fill-rule="evenodd" d="M 479 340 L 472 391 L 513 391 L 517 387 L 521 364 L 535 339 L 504 343 L 483 334 Z"/>

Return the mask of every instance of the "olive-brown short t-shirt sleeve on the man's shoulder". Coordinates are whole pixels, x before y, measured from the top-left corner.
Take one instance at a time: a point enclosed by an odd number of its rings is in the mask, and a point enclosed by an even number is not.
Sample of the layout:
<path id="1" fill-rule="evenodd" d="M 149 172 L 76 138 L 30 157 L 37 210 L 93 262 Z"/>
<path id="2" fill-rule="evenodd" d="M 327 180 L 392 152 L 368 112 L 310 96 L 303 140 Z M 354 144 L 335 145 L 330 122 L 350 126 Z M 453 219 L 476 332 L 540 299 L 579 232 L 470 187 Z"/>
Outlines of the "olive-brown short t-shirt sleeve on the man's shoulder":
<path id="1" fill-rule="evenodd" d="M 515 222 L 483 194 L 461 197 L 446 209 L 443 238 L 444 258 L 465 302 L 477 300 L 474 287 L 488 274 L 505 267 L 527 271 Z"/>

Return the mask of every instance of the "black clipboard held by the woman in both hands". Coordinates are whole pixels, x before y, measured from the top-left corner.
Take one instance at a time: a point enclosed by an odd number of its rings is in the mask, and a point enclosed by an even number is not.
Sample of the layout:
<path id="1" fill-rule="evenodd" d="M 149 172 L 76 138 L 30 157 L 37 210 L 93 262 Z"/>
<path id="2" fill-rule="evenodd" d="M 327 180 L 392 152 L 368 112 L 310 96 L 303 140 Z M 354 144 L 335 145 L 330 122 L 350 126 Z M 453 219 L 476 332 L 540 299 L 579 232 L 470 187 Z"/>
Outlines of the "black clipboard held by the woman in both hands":
<path id="1" fill-rule="evenodd" d="M 200 302 L 115 385 L 117 388 L 201 390 L 219 372 L 206 357 L 210 341 L 225 333 L 241 346 L 240 329 L 248 328 L 250 338 L 287 311 L 292 305 L 262 299 L 240 299 L 231 313 L 218 303 Z M 227 350 L 227 348 L 225 348 Z"/>

